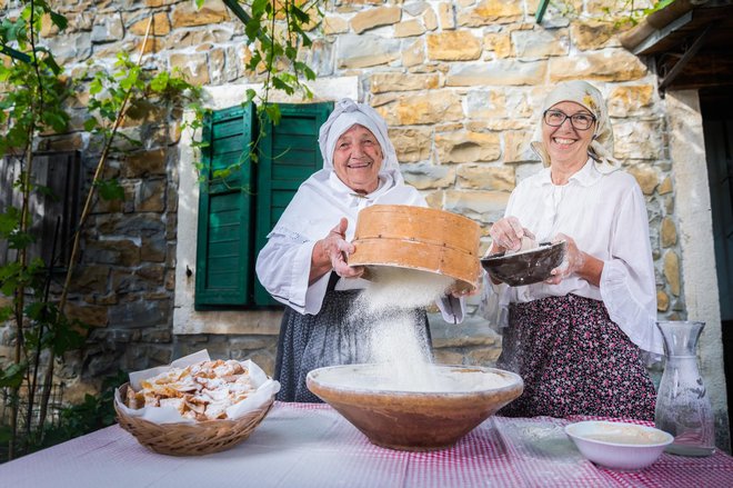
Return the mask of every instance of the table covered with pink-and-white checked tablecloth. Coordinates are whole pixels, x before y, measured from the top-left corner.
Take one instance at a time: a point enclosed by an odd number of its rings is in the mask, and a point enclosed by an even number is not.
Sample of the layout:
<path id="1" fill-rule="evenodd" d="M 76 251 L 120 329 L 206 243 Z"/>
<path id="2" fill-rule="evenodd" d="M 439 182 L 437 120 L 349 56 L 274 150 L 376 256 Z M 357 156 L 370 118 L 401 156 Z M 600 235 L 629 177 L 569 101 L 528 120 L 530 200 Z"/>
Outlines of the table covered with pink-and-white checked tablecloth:
<path id="1" fill-rule="evenodd" d="M 639 471 L 586 461 L 563 427 L 588 419 L 491 417 L 454 447 L 406 452 L 373 446 L 327 405 L 281 404 L 230 450 L 171 457 L 119 426 L 0 465 L 3 487 L 725 487 L 733 458 L 663 454 Z"/>

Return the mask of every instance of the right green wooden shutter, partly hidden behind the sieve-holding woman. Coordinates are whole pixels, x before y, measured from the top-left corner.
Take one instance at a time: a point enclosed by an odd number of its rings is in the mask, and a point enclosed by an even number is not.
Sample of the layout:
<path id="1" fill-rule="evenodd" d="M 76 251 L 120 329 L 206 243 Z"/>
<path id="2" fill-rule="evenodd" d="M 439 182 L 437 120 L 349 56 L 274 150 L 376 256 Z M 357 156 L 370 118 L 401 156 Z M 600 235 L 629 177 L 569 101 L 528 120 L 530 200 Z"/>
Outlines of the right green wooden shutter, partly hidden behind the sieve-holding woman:
<path id="1" fill-rule="evenodd" d="M 333 110 L 332 102 L 279 103 L 279 125 L 265 122 L 257 165 L 255 255 L 264 247 L 268 233 L 292 200 L 298 187 L 323 167 L 318 131 Z M 277 305 L 259 281 L 254 303 Z"/>

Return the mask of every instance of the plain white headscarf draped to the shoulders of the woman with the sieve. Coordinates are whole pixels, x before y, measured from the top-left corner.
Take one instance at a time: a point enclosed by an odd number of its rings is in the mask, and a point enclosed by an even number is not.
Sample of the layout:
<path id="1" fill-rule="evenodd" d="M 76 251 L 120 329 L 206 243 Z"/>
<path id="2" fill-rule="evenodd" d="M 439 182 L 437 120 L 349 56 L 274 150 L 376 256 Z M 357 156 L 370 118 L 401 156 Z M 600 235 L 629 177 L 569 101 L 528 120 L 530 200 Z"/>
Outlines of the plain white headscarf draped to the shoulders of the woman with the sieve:
<path id="1" fill-rule="evenodd" d="M 337 140 L 354 125 L 369 129 L 376 138 L 383 155 L 379 171 L 379 186 L 373 192 L 358 195 L 339 179 L 333 168 Z M 343 99 L 321 126 L 319 146 L 323 169 L 305 180 L 270 236 L 274 233 L 293 239 L 322 239 L 342 217 L 349 219 L 347 239 L 351 240 L 359 210 L 375 203 L 412 205 L 425 207 L 425 199 L 413 187 L 404 185 L 394 146 L 390 141 L 386 122 L 366 103 Z"/>

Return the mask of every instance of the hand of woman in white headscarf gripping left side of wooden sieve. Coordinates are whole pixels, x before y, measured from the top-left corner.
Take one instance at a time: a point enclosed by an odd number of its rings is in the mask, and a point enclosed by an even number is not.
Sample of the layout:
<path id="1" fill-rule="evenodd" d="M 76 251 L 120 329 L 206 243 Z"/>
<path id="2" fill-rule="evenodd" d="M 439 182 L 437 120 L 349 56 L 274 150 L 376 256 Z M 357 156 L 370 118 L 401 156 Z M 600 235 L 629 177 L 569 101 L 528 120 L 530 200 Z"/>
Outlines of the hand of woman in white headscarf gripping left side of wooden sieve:
<path id="1" fill-rule="evenodd" d="M 364 273 L 363 266 L 349 266 L 347 259 L 354 251 L 354 245 L 347 242 L 349 220 L 342 218 L 329 235 L 319 240 L 311 258 L 310 282 L 334 270 L 342 278 L 359 278 Z"/>

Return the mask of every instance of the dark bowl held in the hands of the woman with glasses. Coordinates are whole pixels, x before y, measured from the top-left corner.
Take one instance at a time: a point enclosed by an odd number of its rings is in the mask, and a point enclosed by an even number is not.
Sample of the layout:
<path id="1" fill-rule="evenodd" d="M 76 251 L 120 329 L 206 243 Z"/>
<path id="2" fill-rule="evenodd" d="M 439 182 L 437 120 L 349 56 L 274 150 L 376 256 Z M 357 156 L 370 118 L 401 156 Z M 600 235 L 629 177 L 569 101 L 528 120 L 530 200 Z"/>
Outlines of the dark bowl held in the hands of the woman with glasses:
<path id="1" fill-rule="evenodd" d="M 538 283 L 550 278 L 550 271 L 562 263 L 568 245 L 542 242 L 536 249 L 514 255 L 492 255 L 481 260 L 481 266 L 493 279 L 511 287 Z"/>

